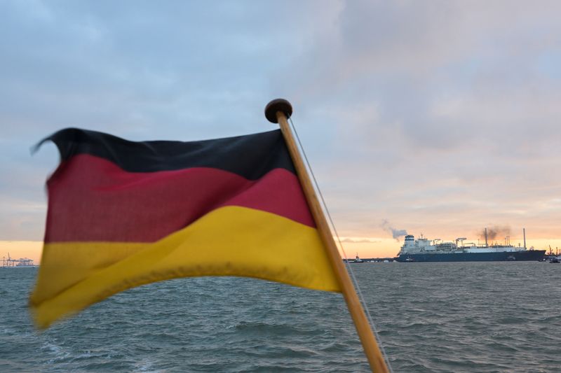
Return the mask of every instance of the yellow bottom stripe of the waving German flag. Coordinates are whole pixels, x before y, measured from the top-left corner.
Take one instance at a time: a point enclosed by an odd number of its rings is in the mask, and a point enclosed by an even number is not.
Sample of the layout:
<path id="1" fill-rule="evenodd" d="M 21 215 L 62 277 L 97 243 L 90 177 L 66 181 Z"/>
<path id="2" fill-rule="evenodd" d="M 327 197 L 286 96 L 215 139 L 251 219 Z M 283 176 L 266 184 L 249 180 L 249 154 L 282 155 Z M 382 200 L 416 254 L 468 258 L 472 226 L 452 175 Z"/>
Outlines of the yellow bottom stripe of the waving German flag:
<path id="1" fill-rule="evenodd" d="M 31 297 L 34 318 L 47 328 L 120 291 L 185 276 L 248 276 L 341 291 L 315 228 L 226 206 L 152 244 L 46 244 Z"/>

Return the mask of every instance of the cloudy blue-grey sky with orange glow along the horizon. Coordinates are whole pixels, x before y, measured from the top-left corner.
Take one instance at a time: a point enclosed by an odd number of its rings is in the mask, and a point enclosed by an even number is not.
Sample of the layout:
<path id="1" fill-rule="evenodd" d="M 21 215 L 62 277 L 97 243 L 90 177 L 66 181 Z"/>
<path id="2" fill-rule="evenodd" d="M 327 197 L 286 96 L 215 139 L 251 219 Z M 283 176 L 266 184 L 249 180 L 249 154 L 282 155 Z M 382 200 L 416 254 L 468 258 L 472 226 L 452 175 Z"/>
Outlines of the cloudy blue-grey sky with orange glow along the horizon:
<path id="1" fill-rule="evenodd" d="M 0 1 L 0 255 L 39 261 L 44 136 L 262 132 L 277 97 L 349 256 L 484 227 L 561 248 L 559 1 L 279 4 Z"/>

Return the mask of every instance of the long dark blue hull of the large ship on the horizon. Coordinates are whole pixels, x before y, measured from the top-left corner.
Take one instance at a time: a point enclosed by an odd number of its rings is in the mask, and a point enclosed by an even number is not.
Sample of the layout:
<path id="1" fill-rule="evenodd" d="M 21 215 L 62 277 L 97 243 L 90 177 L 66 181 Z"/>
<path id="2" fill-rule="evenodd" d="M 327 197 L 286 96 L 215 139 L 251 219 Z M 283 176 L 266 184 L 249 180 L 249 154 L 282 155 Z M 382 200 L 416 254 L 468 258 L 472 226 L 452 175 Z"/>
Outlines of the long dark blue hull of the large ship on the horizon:
<path id="1" fill-rule="evenodd" d="M 398 262 L 518 262 L 543 260 L 545 250 L 501 251 L 499 253 L 401 254 Z"/>

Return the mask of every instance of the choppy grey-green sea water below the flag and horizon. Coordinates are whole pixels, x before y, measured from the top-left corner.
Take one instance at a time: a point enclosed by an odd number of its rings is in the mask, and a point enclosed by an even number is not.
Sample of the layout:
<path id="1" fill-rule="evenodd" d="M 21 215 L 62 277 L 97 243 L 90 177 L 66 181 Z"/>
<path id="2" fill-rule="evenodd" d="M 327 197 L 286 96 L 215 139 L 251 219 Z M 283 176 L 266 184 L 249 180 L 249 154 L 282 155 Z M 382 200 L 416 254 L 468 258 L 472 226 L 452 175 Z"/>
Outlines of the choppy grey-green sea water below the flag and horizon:
<path id="1" fill-rule="evenodd" d="M 561 264 L 351 265 L 394 372 L 561 372 Z M 341 295 L 234 277 L 114 295 L 45 332 L 0 269 L 0 372 L 365 372 Z"/>

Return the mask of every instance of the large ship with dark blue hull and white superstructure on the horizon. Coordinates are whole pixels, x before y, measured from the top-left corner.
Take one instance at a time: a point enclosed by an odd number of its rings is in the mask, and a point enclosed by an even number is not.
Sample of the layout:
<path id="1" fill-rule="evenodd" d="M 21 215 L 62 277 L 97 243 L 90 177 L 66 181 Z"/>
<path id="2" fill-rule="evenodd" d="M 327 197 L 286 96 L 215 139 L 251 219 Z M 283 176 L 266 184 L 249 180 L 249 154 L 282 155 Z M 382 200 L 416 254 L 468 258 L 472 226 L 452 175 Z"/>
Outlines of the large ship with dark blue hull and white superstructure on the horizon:
<path id="1" fill-rule="evenodd" d="M 526 231 L 524 230 L 524 246 L 512 246 L 510 239 L 505 238 L 504 244 L 487 244 L 487 228 L 485 228 L 485 244 L 464 243 L 465 237 L 454 242 L 440 242 L 426 237 L 415 239 L 412 234 L 405 236 L 405 242 L 398 254 L 398 262 L 494 262 L 509 260 L 543 260 L 545 250 L 526 248 Z"/>

